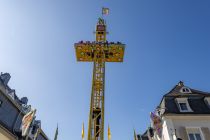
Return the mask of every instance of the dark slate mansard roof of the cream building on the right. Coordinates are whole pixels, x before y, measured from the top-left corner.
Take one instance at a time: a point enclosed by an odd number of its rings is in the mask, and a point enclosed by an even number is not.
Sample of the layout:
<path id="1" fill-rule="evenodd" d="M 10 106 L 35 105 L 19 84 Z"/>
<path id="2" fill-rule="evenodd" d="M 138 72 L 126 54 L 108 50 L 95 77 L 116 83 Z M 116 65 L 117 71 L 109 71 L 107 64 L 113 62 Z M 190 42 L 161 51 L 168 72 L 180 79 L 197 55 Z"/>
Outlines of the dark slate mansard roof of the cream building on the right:
<path id="1" fill-rule="evenodd" d="M 191 92 L 181 92 L 180 90 L 183 87 L 190 89 Z M 204 101 L 205 97 L 210 97 L 210 93 L 186 87 L 183 82 L 179 82 L 169 93 L 163 96 L 161 103 L 164 101 L 164 114 L 210 114 L 210 107 Z M 180 112 L 176 98 L 187 98 L 189 106 L 193 111 Z"/>

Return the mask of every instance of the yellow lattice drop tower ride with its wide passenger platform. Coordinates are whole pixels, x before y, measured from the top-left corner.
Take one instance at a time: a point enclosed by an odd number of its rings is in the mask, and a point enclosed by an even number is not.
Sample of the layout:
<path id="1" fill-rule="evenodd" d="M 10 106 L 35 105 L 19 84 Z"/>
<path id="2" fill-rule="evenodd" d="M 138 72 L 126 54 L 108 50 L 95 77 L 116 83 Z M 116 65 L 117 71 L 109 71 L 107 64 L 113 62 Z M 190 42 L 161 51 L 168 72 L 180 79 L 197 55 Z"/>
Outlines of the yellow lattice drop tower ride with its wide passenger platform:
<path id="1" fill-rule="evenodd" d="M 75 43 L 77 61 L 93 62 L 88 140 L 104 140 L 105 62 L 123 62 L 125 45 L 106 40 L 106 23 L 102 18 L 96 25 L 96 41 Z"/>

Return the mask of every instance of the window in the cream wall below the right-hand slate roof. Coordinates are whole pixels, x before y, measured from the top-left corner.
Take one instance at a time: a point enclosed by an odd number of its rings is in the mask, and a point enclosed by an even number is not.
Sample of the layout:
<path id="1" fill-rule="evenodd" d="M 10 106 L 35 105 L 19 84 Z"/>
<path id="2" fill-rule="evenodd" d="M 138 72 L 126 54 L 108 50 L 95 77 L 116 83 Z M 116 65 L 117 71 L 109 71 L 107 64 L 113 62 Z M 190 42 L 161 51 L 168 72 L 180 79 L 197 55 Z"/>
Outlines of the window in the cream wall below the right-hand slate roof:
<path id="1" fill-rule="evenodd" d="M 189 140 L 203 140 L 200 128 L 187 128 Z"/>

